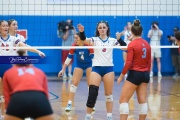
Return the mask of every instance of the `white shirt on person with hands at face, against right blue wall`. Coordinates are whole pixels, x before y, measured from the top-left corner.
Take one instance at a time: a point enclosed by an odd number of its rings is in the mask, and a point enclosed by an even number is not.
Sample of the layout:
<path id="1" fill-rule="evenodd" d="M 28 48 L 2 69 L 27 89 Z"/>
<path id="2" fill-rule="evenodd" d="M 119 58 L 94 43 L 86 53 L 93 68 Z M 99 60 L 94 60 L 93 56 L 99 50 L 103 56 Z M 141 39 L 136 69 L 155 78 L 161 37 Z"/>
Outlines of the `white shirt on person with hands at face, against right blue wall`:
<path id="1" fill-rule="evenodd" d="M 161 34 L 163 34 L 162 30 L 150 30 L 152 32 L 151 40 L 150 40 L 150 45 L 151 46 L 159 46 L 160 45 L 160 39 L 159 39 L 159 31 Z"/>

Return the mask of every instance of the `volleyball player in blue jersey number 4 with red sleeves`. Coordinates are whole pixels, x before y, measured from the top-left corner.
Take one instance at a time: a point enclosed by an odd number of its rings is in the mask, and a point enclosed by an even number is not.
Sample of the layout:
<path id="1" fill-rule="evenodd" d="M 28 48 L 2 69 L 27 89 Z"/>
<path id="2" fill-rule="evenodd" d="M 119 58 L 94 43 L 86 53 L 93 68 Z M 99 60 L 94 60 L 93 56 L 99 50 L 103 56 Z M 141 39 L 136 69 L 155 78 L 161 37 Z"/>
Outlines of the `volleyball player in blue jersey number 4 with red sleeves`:
<path id="1" fill-rule="evenodd" d="M 75 43 L 72 46 L 88 46 L 84 43 L 84 39 L 80 39 L 80 33 L 76 33 L 74 35 Z M 73 72 L 72 84 L 70 87 L 69 93 L 69 100 L 67 107 L 65 108 L 66 111 L 70 111 L 72 108 L 72 101 L 74 100 L 74 95 L 77 89 L 77 86 L 82 78 L 83 71 L 86 70 L 86 78 L 87 83 L 89 85 L 89 77 L 91 73 L 91 66 L 92 66 L 92 58 L 94 57 L 94 50 L 93 49 L 70 49 L 69 55 L 66 58 L 65 64 L 63 65 L 62 70 L 59 72 L 58 77 L 62 76 L 65 71 L 66 67 L 72 60 L 72 57 L 76 54 L 76 67 Z"/>

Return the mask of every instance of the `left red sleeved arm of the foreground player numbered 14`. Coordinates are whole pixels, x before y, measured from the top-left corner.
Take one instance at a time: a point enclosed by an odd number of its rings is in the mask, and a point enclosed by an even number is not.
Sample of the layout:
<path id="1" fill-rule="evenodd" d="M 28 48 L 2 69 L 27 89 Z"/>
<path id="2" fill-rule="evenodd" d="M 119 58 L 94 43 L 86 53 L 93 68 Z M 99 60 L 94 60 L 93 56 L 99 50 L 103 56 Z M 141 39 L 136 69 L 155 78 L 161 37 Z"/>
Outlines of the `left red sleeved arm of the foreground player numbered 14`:
<path id="1" fill-rule="evenodd" d="M 6 78 L 6 74 L 3 77 L 3 93 L 4 93 L 4 98 L 5 98 L 5 107 L 7 108 L 9 101 L 10 101 L 10 88 L 9 88 L 9 84 Z"/>

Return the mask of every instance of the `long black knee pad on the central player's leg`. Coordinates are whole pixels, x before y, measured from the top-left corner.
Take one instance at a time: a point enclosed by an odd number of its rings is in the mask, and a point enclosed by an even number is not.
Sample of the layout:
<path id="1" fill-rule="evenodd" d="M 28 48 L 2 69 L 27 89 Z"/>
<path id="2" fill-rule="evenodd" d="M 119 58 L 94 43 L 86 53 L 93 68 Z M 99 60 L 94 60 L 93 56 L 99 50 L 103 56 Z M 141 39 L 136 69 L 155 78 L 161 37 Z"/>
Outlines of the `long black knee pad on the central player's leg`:
<path id="1" fill-rule="evenodd" d="M 97 96 L 98 96 L 98 90 L 99 90 L 98 86 L 95 86 L 95 85 L 89 86 L 89 96 L 86 103 L 87 107 L 93 108 L 95 106 Z"/>

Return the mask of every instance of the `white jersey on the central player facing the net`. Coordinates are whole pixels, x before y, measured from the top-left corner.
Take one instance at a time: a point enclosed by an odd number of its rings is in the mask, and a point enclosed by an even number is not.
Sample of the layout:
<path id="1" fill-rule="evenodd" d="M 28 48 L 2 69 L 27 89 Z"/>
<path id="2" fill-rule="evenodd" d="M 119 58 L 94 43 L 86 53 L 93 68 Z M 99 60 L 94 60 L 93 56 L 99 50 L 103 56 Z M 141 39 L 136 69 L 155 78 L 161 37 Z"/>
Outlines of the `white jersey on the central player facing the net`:
<path id="1" fill-rule="evenodd" d="M 119 45 L 116 39 L 108 37 L 107 40 L 102 40 L 100 37 L 92 37 L 94 46 L 104 46 L 104 48 L 94 49 L 94 58 L 92 66 L 114 66 L 113 64 L 113 48 L 106 48 L 106 46 Z"/>

